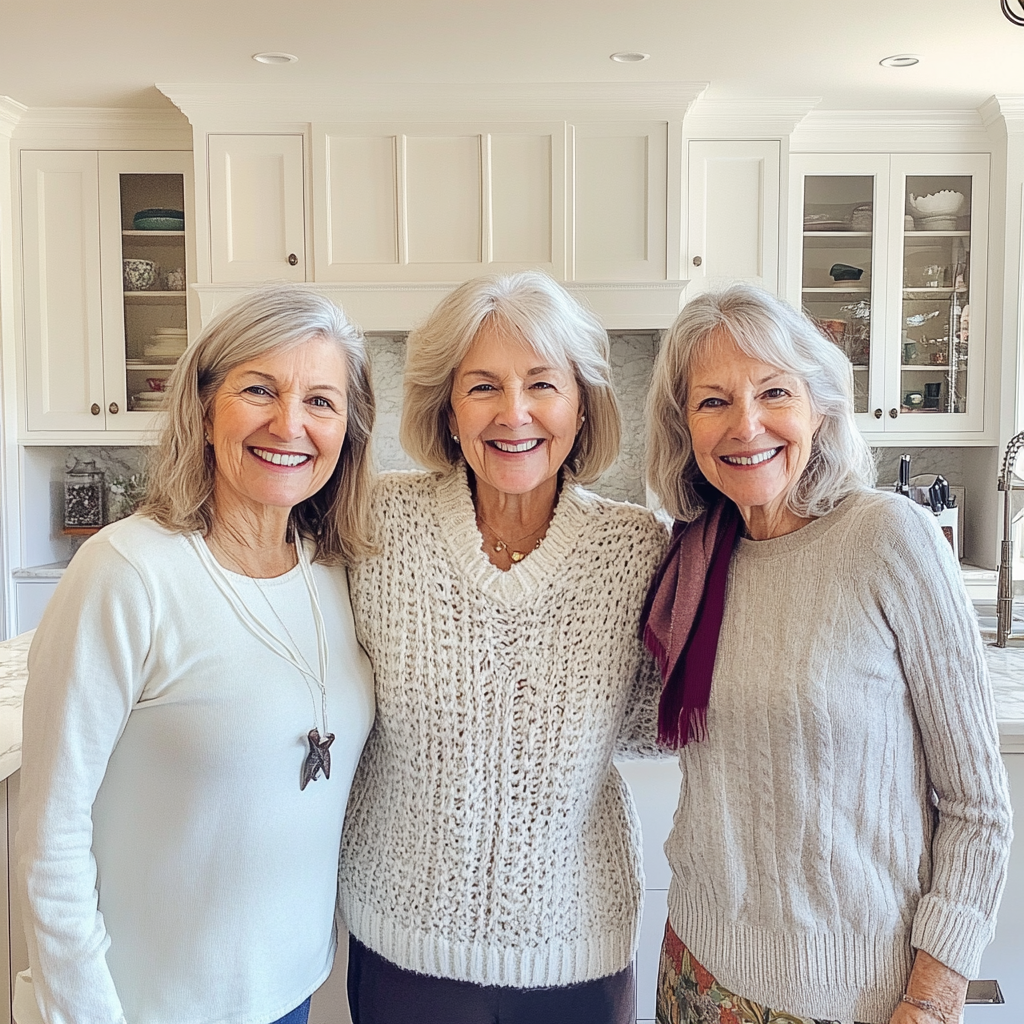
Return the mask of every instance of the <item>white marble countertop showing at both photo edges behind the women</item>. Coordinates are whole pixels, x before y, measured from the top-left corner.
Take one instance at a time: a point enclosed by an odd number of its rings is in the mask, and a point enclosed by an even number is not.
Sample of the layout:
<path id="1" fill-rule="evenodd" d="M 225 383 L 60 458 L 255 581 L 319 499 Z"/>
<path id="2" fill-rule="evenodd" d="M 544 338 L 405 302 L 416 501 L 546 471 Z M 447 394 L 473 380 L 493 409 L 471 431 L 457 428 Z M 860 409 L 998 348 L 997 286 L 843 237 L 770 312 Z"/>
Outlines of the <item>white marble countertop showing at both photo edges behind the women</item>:
<path id="1" fill-rule="evenodd" d="M 1022 624 L 1015 623 L 1015 629 Z M 1024 645 L 996 647 L 981 616 L 985 658 L 995 694 L 999 746 L 1004 754 L 1024 754 Z M 0 780 L 22 765 L 22 700 L 28 679 L 33 633 L 0 643 Z"/>

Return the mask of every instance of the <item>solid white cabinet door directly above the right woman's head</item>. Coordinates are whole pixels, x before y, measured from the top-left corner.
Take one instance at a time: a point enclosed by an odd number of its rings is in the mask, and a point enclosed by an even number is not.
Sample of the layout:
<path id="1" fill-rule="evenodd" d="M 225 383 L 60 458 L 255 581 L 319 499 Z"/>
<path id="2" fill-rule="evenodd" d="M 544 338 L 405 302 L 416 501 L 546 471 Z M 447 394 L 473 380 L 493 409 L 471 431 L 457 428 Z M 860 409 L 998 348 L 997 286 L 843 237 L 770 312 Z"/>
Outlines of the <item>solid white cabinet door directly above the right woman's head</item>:
<path id="1" fill-rule="evenodd" d="M 778 292 L 780 143 L 691 141 L 687 297 L 736 281 Z"/>

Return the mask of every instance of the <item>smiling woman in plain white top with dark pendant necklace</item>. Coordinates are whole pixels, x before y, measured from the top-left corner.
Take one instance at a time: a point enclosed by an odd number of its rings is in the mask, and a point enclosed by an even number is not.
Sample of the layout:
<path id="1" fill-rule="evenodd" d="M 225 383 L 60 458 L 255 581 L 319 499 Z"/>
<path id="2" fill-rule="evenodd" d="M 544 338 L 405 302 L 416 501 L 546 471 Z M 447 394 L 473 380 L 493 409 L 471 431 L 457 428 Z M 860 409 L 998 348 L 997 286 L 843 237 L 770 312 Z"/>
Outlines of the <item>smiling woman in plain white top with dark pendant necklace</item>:
<path id="1" fill-rule="evenodd" d="M 142 512 L 60 581 L 17 834 L 46 1024 L 304 1024 L 374 713 L 344 566 L 373 419 L 337 306 L 244 298 L 174 372 Z"/>

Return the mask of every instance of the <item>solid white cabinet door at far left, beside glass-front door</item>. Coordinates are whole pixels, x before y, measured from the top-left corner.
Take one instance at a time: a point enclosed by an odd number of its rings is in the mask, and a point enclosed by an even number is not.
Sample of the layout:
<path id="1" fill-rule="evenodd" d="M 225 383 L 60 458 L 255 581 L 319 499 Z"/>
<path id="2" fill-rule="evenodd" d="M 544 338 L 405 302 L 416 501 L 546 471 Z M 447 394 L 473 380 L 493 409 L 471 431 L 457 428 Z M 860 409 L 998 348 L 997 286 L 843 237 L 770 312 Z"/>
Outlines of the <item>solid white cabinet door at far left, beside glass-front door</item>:
<path id="1" fill-rule="evenodd" d="M 30 430 L 103 427 L 95 153 L 22 154 Z"/>

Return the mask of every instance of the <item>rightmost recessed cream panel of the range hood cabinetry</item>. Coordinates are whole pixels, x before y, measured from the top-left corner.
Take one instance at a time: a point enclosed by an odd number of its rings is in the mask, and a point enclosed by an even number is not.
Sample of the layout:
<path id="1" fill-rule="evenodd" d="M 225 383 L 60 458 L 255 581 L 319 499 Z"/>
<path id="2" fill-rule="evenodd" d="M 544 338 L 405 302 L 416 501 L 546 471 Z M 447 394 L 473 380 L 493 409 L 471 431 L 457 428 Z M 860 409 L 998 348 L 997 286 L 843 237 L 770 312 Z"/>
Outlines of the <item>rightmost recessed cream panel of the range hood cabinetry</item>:
<path id="1" fill-rule="evenodd" d="M 666 122 L 572 127 L 572 281 L 668 278 Z"/>

